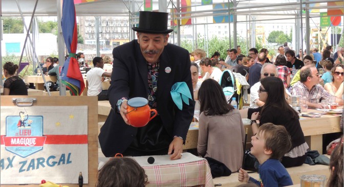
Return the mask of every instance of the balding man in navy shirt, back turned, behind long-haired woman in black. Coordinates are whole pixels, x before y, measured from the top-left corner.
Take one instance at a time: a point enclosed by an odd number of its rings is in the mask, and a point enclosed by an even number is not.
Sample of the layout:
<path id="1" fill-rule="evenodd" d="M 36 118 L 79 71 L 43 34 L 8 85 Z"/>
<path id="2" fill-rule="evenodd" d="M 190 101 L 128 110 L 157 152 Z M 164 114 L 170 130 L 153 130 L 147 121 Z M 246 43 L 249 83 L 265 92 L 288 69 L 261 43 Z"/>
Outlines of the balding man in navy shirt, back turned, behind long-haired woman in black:
<path id="1" fill-rule="evenodd" d="M 250 51 L 249 53 L 251 54 L 252 51 Z M 250 55 L 250 57 L 252 56 Z M 254 59 L 254 57 L 252 58 Z M 249 69 L 250 76 L 248 77 L 248 84 L 250 84 L 250 86 L 253 86 L 255 83 L 259 82 L 259 79 L 261 77 L 262 66 L 264 65 L 266 61 L 266 54 L 263 52 L 260 53 L 259 55 L 257 55 L 257 59 L 258 59 L 258 62 L 253 64 Z"/>

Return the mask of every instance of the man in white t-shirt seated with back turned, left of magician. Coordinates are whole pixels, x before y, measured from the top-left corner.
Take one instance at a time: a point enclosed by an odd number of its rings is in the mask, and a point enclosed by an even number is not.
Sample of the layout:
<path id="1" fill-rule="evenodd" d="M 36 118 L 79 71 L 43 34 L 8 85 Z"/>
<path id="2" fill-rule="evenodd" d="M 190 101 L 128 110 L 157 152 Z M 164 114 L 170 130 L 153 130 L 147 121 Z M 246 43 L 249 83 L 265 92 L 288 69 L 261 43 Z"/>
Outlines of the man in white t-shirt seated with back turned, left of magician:
<path id="1" fill-rule="evenodd" d="M 111 77 L 111 73 L 107 73 L 103 69 L 103 59 L 94 57 L 93 68 L 86 74 L 86 87 L 88 88 L 87 96 L 98 96 L 98 101 L 109 100 L 107 90 L 103 90 L 103 77 Z"/>

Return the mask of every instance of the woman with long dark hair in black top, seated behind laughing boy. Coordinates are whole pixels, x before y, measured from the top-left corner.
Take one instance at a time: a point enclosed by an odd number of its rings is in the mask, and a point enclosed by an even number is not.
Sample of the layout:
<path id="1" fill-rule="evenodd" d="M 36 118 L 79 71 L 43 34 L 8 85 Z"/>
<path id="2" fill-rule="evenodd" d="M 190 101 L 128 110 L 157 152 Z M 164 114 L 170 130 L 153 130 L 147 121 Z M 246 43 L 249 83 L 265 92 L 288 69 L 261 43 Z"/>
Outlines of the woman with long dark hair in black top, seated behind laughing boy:
<path id="1" fill-rule="evenodd" d="M 298 113 L 287 103 L 285 88 L 281 79 L 266 77 L 261 80 L 258 90 L 259 100 L 265 104 L 259 108 L 241 110 L 242 118 L 251 119 L 252 132 L 258 130 L 256 120 L 260 124 L 273 123 L 283 125 L 291 136 L 292 149 L 282 157 L 284 167 L 301 166 L 306 160 L 309 148 L 301 129 Z"/>

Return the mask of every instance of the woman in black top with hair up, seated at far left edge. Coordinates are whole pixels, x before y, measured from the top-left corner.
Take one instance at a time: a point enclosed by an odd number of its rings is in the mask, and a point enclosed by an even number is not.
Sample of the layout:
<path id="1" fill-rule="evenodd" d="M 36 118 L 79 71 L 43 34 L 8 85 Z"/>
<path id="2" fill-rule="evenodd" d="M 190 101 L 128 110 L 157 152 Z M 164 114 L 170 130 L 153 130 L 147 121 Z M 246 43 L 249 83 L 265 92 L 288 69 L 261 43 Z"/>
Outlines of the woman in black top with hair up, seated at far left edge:
<path id="1" fill-rule="evenodd" d="M 28 88 L 24 81 L 15 75 L 18 69 L 17 64 L 13 62 L 6 62 L 4 64 L 4 76 L 6 80 L 4 82 L 4 96 L 27 96 Z"/>

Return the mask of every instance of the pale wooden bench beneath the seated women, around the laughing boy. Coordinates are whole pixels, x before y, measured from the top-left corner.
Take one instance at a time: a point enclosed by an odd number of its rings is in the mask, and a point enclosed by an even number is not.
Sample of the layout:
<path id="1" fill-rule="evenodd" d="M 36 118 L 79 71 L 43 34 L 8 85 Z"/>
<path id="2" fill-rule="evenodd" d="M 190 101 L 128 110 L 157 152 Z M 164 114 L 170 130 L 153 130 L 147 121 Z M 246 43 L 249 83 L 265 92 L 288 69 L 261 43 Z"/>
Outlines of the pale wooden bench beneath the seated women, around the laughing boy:
<path id="1" fill-rule="evenodd" d="M 302 175 L 325 175 L 326 178 L 330 176 L 329 166 L 325 165 L 314 165 L 303 164 L 302 166 L 287 168 L 287 171 L 293 181 L 293 184 L 300 183 L 300 176 Z M 213 179 L 214 184 L 222 184 L 222 186 L 237 186 L 241 184 L 238 180 L 239 173 L 232 173 L 228 177 L 217 177 Z M 258 180 L 258 173 L 249 173 L 250 177 Z"/>

